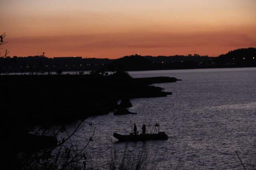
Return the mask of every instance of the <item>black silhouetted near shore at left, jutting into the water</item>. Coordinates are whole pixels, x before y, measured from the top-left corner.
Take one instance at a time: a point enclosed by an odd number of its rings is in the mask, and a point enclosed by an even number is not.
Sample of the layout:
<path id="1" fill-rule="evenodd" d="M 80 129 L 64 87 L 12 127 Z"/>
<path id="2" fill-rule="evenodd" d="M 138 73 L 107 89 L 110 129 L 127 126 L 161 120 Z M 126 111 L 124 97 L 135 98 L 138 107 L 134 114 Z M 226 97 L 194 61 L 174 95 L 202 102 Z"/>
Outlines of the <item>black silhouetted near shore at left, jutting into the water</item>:
<path id="1" fill-rule="evenodd" d="M 56 136 L 65 130 L 66 123 L 79 120 L 84 123 L 87 117 L 130 107 L 133 98 L 166 97 L 172 93 L 152 84 L 176 81 L 174 77 L 132 78 L 124 71 L 111 75 L 0 75 L 4 136 L 0 150 L 6 155 L 7 165 L 15 168 L 20 165 L 17 156 L 20 152 L 36 153 L 61 146 L 66 139 L 57 141 Z M 54 133 L 46 133 L 50 125 L 61 128 L 57 133 L 56 129 Z M 35 126 L 42 127 L 40 136 L 31 131 Z"/>

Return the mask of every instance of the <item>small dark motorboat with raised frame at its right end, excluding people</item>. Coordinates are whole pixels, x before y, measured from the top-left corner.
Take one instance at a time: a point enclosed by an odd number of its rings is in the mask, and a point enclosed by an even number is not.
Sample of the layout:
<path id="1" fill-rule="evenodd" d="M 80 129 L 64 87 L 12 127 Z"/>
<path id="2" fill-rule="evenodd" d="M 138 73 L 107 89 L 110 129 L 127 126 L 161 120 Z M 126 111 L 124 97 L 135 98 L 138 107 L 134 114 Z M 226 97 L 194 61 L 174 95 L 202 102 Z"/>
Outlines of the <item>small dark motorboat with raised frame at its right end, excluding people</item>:
<path id="1" fill-rule="evenodd" d="M 154 129 L 154 131 L 153 131 Z M 118 134 L 114 132 L 113 136 L 119 141 L 146 141 L 146 140 L 167 140 L 168 136 L 165 132 L 159 132 L 159 124 L 156 123 L 151 130 L 150 134 L 133 134 L 128 135 Z"/>

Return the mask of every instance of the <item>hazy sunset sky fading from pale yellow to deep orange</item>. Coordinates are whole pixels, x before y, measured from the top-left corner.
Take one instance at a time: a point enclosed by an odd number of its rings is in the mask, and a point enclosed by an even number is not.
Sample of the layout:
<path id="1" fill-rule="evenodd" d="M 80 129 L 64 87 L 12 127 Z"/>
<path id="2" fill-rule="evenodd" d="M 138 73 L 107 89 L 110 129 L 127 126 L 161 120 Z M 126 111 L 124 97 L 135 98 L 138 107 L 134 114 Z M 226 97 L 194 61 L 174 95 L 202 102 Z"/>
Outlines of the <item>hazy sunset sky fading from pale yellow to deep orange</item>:
<path id="1" fill-rule="evenodd" d="M 256 0 L 0 0 L 10 56 L 217 56 L 256 47 Z M 0 49 L 4 53 L 4 49 Z"/>

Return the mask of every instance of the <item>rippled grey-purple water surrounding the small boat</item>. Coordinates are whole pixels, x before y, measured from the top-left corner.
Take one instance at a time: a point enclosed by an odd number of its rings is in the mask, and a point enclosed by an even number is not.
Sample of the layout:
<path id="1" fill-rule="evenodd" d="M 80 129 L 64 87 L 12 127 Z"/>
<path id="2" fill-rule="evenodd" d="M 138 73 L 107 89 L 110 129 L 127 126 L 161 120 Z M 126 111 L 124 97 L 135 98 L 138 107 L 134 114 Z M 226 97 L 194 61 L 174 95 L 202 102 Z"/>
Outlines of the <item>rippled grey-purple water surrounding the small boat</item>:
<path id="1" fill-rule="evenodd" d="M 133 165 L 142 156 L 142 169 L 241 170 L 237 151 L 247 169 L 256 168 L 256 68 L 129 73 L 182 81 L 155 84 L 171 91 L 168 97 L 132 99 L 129 110 L 137 115 L 88 118 L 93 125 L 83 127 L 71 140 L 82 148 L 96 127 L 94 141 L 85 151 L 87 167 L 107 169 L 111 158 L 117 166 L 120 162 Z M 145 124 L 148 133 L 159 123 L 169 138 L 122 143 L 112 136 L 113 132 L 132 132 L 134 123 L 139 132 Z"/>

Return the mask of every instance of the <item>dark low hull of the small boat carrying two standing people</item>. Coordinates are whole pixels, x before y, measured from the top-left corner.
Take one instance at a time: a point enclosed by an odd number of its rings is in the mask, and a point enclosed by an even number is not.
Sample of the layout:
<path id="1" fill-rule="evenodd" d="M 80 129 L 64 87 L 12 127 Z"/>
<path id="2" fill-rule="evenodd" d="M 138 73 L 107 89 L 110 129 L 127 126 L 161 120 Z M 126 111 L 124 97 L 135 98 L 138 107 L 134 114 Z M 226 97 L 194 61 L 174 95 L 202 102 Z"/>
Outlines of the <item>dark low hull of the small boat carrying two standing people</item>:
<path id="1" fill-rule="evenodd" d="M 146 141 L 146 140 L 167 140 L 167 134 L 130 134 L 130 135 L 122 135 L 118 133 L 114 133 L 113 136 L 117 138 L 119 141 Z"/>

